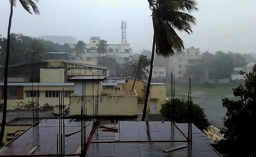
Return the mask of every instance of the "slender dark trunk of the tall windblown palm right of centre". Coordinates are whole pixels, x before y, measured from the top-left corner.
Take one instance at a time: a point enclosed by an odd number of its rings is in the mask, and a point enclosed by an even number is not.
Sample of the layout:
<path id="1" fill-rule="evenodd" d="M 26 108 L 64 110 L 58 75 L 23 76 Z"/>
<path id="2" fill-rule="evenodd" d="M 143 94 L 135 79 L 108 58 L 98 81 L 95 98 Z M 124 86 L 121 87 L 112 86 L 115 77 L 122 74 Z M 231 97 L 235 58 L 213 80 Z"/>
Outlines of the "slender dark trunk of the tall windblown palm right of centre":
<path id="1" fill-rule="evenodd" d="M 148 76 L 148 85 L 147 85 L 147 91 L 146 91 L 145 103 L 144 103 L 144 108 L 143 108 L 143 114 L 142 114 L 141 121 L 145 121 L 145 117 L 146 117 L 146 111 L 147 111 L 147 106 L 148 106 L 148 95 L 149 95 L 150 83 L 151 83 L 152 72 L 153 72 L 155 46 L 156 46 L 156 39 L 155 39 L 155 34 L 154 34 L 153 35 L 152 54 L 151 54 L 151 60 L 150 60 L 150 71 L 149 71 L 149 76 Z"/>

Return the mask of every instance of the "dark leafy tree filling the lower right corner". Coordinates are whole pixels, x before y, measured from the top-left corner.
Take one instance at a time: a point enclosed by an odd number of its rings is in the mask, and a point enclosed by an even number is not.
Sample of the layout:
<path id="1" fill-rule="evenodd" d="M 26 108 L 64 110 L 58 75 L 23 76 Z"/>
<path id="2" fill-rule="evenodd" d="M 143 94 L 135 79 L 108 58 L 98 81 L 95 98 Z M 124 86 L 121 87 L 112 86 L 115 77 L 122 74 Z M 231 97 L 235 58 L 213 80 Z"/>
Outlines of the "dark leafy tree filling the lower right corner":
<path id="1" fill-rule="evenodd" d="M 256 66 L 249 74 L 240 74 L 245 77 L 245 85 L 233 89 L 234 96 L 240 100 L 222 100 L 227 112 L 223 119 L 225 128 L 220 131 L 224 139 L 218 142 L 218 150 L 230 156 L 252 157 L 256 155 L 254 144 L 249 142 L 256 140 Z"/>

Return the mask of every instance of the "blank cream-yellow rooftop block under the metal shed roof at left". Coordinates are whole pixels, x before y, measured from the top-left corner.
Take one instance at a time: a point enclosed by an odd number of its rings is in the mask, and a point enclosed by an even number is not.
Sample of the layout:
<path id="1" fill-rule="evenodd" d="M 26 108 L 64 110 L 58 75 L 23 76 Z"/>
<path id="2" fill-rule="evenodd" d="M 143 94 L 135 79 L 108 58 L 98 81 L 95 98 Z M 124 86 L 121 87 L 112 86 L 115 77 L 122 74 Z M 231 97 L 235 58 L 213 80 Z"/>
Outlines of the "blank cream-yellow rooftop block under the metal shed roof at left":
<path id="1" fill-rule="evenodd" d="M 65 82 L 64 69 L 40 69 L 41 82 Z"/>

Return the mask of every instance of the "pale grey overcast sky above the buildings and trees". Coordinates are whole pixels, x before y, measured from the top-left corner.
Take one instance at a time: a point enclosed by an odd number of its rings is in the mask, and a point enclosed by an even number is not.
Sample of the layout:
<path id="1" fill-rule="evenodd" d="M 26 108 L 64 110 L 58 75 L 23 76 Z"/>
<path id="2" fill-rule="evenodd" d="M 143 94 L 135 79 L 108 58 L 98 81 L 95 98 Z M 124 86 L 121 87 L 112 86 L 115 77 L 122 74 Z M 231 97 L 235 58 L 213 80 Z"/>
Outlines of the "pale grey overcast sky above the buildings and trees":
<path id="1" fill-rule="evenodd" d="M 151 49 L 152 21 L 147 0 L 40 0 L 41 15 L 28 14 L 18 3 L 12 33 L 73 36 L 89 42 L 100 36 L 121 43 L 121 21 L 127 21 L 127 42 L 133 52 Z M 185 47 L 201 52 L 256 52 L 256 0 L 198 0 L 194 33 L 178 33 Z M 7 34 L 9 0 L 1 0 L 0 35 Z"/>

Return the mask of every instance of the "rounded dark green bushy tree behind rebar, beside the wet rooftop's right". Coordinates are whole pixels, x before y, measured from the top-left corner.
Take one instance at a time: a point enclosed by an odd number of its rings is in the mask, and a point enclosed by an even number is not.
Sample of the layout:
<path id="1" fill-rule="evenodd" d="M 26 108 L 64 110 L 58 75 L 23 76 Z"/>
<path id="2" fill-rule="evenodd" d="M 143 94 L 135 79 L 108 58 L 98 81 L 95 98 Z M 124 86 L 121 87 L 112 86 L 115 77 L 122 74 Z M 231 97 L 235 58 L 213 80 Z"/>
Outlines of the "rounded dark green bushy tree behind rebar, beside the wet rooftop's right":
<path id="1" fill-rule="evenodd" d="M 178 123 L 187 123 L 187 101 L 183 99 L 174 99 L 174 120 Z M 171 102 L 166 102 L 165 104 L 161 104 L 161 114 L 167 119 L 171 119 Z M 204 109 L 199 105 L 192 103 L 192 122 L 195 126 L 201 131 L 208 130 L 210 127 L 210 123 L 204 114 Z"/>

